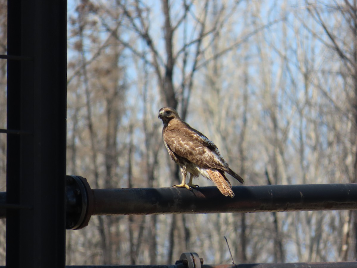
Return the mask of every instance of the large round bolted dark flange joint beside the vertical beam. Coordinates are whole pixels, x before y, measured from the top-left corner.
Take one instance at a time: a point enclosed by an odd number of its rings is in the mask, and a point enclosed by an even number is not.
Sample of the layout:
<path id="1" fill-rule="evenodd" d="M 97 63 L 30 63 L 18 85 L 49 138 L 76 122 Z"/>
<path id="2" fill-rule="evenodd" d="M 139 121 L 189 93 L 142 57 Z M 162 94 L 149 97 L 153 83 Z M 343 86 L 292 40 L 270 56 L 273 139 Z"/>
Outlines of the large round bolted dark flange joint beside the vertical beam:
<path id="1" fill-rule="evenodd" d="M 82 229 L 93 212 L 93 193 L 86 178 L 66 176 L 66 229 Z"/>

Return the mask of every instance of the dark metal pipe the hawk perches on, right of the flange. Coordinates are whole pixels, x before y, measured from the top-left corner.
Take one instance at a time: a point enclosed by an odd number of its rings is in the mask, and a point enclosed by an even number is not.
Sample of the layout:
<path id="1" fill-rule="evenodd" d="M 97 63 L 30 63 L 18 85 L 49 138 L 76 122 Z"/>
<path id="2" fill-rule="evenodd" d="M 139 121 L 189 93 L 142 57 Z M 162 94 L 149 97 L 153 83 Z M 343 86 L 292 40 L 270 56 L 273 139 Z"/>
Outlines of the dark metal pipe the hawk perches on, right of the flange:
<path id="1" fill-rule="evenodd" d="M 243 213 L 356 210 L 357 184 L 233 187 L 234 198 L 216 187 L 92 189 L 92 215 Z"/>

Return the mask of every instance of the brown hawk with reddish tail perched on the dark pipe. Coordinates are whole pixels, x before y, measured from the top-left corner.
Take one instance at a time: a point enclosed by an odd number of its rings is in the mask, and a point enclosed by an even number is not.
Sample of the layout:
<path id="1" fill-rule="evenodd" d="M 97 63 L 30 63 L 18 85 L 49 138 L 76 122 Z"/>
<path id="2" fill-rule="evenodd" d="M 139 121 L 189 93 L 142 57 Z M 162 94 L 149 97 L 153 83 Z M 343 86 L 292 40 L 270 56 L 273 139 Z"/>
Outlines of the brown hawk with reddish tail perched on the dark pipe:
<path id="1" fill-rule="evenodd" d="M 203 177 L 212 180 L 218 190 L 233 197 L 232 185 L 225 176 L 225 172 L 243 183 L 243 179 L 228 167 L 217 146 L 205 135 L 191 128 L 171 107 L 159 110 L 159 118 L 164 123 L 162 138 L 172 160 L 180 166 L 182 183 L 173 187 L 183 187 L 192 191 L 198 185 L 192 184 L 192 179 Z M 190 181 L 186 184 L 186 174 L 190 173 Z"/>

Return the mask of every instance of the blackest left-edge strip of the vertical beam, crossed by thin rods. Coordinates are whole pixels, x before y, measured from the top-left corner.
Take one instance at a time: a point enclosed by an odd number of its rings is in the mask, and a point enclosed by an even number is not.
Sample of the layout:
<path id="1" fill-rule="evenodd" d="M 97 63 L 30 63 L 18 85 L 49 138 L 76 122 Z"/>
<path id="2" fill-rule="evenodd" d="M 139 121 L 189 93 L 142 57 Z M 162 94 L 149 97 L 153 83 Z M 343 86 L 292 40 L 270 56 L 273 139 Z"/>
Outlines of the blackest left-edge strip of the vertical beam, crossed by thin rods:
<path id="1" fill-rule="evenodd" d="M 20 3 L 9 0 L 7 3 L 7 54 L 21 55 L 20 36 L 21 17 L 16 13 L 21 9 Z M 20 61 L 7 61 L 7 129 L 20 129 Z M 6 137 L 6 202 L 19 204 L 20 184 L 20 136 Z M 11 148 L 11 150 L 10 150 Z M 19 257 L 15 253 L 19 250 L 20 213 L 18 210 L 6 211 L 6 263 L 9 267 L 19 267 Z"/>

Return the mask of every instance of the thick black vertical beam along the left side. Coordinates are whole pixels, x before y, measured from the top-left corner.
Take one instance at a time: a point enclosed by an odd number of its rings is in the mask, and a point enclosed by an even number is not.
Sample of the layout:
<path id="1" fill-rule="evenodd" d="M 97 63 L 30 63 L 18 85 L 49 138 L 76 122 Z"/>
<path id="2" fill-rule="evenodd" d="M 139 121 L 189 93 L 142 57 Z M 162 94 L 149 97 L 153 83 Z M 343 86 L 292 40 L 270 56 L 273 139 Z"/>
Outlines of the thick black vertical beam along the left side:
<path id="1" fill-rule="evenodd" d="M 66 0 L 8 1 L 6 267 L 65 266 Z"/>

